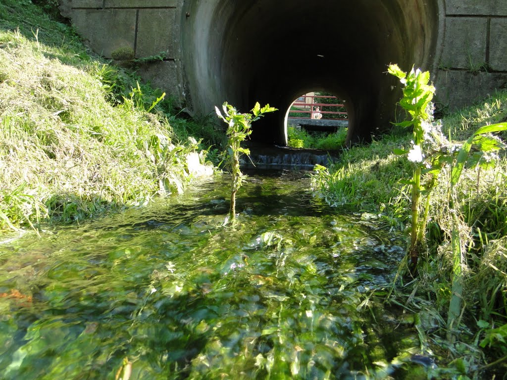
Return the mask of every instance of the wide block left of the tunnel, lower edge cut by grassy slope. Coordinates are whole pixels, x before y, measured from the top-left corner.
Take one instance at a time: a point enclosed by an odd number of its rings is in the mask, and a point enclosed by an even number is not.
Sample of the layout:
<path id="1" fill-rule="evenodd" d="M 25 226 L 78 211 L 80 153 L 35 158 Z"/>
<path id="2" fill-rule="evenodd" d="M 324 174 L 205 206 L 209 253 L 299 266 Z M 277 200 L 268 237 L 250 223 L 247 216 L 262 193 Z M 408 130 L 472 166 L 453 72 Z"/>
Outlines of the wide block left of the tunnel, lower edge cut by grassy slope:
<path id="1" fill-rule="evenodd" d="M 134 48 L 136 10 L 77 9 L 73 15 L 76 30 L 104 57 L 111 58 L 118 48 Z"/>

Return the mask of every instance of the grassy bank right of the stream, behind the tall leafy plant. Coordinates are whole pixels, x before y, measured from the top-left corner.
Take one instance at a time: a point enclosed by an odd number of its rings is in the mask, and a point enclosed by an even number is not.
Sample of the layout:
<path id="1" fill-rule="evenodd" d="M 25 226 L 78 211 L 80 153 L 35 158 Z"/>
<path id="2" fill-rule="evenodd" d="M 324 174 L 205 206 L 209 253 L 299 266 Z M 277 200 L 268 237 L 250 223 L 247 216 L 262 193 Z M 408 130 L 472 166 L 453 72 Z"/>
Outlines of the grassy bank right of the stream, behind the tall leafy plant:
<path id="1" fill-rule="evenodd" d="M 459 148 L 481 126 L 505 121 L 504 91 L 445 117 L 442 132 L 449 137 L 447 148 Z M 499 136 L 503 140 L 507 137 L 505 133 Z M 412 135 L 385 136 L 371 145 L 345 150 L 340 162 L 329 168 L 317 167 L 315 191 L 336 207 L 375 213 L 409 236 L 409 181 L 414 164 L 406 155 L 394 152 L 408 151 L 413 145 L 411 139 Z M 440 174 L 429 197 L 426 247 L 418 275 L 411 277 L 402 263 L 399 280 L 387 301 L 391 307 L 403 307 L 414 315 L 421 347 L 428 355 L 448 358 L 448 368 L 431 372 L 436 378 L 491 378 L 507 370 L 507 160 L 505 149 L 488 155 L 480 148 L 474 146 L 470 157 L 483 155 L 482 165 L 465 164 L 454 188 L 454 202 L 450 168 Z M 423 183 L 430 180 L 429 175 L 423 176 Z M 452 215 L 458 216 L 465 264 L 463 307 L 457 326 L 448 331 L 445 321 L 452 298 Z M 449 332 L 458 337 L 456 341 L 446 338 Z"/>

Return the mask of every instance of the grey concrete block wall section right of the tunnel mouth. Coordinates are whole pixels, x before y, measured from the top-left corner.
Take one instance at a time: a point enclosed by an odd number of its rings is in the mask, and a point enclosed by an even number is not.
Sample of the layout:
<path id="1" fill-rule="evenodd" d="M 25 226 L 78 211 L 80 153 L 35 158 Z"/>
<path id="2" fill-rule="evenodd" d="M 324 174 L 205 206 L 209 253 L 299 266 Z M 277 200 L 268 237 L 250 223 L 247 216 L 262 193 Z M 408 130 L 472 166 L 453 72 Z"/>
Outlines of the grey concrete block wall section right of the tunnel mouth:
<path id="1" fill-rule="evenodd" d="M 441 15 L 442 16 L 442 15 Z M 507 1 L 446 0 L 437 99 L 451 110 L 507 86 Z"/>

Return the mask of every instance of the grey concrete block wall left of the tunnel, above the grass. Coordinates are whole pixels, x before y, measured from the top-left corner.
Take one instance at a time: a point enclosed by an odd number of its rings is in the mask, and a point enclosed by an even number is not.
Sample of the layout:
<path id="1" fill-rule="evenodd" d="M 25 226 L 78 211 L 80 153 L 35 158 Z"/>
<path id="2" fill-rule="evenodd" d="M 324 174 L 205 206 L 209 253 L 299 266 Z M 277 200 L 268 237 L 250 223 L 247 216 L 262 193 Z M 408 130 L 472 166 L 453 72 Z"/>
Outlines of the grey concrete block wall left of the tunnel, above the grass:
<path id="1" fill-rule="evenodd" d="M 60 0 L 62 15 L 105 58 L 125 47 L 136 58 L 164 53 L 163 61 L 141 65 L 138 73 L 176 102 L 184 100 L 180 10 L 180 0 Z"/>

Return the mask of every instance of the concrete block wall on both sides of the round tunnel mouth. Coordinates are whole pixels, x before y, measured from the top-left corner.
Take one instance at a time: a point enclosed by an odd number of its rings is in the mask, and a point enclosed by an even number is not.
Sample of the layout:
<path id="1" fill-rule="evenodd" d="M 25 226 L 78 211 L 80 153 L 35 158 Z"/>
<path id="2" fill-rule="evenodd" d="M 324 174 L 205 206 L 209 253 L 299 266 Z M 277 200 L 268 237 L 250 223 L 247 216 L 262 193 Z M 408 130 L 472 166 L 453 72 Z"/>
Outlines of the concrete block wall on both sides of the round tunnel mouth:
<path id="1" fill-rule="evenodd" d="M 278 0 L 277 0 L 278 1 Z M 184 0 L 60 0 L 89 46 L 106 58 L 131 47 L 143 79 L 176 101 L 185 99 L 180 30 Z M 432 65 L 436 101 L 450 110 L 507 86 L 507 0 L 439 0 L 439 44 Z M 197 43 L 197 42 L 195 42 Z M 414 62 L 417 64 L 417 62 Z M 189 100 L 189 99 L 187 99 Z"/>

